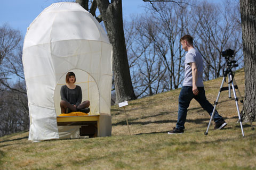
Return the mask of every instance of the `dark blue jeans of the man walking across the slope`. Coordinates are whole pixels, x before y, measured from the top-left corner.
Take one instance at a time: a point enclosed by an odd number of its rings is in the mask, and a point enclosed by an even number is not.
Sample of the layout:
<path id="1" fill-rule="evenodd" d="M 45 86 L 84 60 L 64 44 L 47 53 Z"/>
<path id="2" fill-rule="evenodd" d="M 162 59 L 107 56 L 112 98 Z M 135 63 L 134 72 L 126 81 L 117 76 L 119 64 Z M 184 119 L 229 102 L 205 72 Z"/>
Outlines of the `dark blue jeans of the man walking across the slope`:
<path id="1" fill-rule="evenodd" d="M 180 91 L 179 96 L 179 112 L 178 112 L 178 121 L 176 124 L 177 129 L 185 129 L 185 122 L 188 112 L 188 106 L 190 104 L 190 101 L 194 98 L 198 103 L 203 107 L 205 111 L 209 113 L 209 115 L 212 115 L 213 106 L 210 104 L 210 102 L 205 97 L 205 91 L 204 87 L 197 87 L 199 90 L 198 95 L 194 95 L 192 91 L 192 87 L 189 86 L 183 86 Z M 220 122 L 223 120 L 223 118 L 218 114 L 217 110 L 215 111 L 214 115 L 214 122 Z"/>

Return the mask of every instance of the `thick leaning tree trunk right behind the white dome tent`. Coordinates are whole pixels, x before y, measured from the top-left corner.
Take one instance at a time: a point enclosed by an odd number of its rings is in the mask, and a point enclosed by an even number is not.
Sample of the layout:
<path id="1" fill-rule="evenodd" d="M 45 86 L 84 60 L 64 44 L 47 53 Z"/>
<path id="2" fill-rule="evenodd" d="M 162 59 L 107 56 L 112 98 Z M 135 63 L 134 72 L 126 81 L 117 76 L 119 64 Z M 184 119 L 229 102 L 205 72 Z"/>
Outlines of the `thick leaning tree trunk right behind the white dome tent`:
<path id="1" fill-rule="evenodd" d="M 122 1 L 97 0 L 108 38 L 113 46 L 113 71 L 116 89 L 116 104 L 136 99 L 124 39 Z"/>

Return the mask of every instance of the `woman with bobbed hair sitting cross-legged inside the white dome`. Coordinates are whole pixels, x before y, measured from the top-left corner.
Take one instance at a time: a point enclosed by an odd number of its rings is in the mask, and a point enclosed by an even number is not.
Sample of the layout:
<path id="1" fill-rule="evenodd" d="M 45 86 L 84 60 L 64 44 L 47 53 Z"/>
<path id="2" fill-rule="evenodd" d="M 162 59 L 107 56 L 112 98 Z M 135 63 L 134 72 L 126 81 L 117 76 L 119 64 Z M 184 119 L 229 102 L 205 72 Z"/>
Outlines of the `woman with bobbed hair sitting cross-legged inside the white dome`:
<path id="1" fill-rule="evenodd" d="M 76 75 L 73 72 L 68 72 L 66 75 L 66 85 L 63 85 L 60 90 L 60 108 L 61 113 L 70 112 L 90 112 L 90 101 L 82 101 L 82 89 L 75 84 Z"/>

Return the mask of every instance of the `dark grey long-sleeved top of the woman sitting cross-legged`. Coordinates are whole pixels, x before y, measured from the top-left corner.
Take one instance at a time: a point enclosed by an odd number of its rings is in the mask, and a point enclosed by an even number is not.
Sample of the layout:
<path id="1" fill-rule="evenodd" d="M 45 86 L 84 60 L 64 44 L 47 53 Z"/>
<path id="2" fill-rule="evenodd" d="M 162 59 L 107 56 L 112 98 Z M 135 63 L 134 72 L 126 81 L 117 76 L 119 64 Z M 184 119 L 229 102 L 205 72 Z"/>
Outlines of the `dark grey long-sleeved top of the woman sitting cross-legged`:
<path id="1" fill-rule="evenodd" d="M 65 100 L 71 105 L 80 105 L 82 101 L 82 89 L 76 85 L 75 89 L 69 89 L 66 85 L 60 89 L 61 100 Z"/>

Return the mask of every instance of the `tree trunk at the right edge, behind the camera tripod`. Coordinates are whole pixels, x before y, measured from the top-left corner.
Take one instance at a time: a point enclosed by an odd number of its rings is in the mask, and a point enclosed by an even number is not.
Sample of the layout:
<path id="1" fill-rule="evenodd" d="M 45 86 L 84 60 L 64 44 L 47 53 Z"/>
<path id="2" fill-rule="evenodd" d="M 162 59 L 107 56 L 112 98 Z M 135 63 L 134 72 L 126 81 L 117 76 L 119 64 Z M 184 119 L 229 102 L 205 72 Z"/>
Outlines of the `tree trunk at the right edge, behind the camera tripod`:
<path id="1" fill-rule="evenodd" d="M 252 121 L 256 120 L 256 1 L 240 0 L 244 70 L 245 108 Z M 243 112 L 243 111 L 242 111 Z M 242 113 L 242 119 L 247 120 Z"/>

